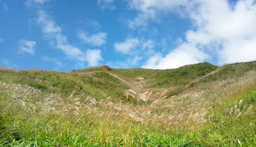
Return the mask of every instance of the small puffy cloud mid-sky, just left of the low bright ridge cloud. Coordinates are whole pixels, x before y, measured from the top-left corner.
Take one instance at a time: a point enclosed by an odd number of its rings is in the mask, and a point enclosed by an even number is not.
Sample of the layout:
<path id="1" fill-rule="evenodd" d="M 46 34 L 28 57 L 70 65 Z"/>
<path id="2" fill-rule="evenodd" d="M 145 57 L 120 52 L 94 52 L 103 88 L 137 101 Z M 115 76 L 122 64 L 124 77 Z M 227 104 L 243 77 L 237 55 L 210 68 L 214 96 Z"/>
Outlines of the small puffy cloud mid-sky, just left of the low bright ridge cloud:
<path id="1" fill-rule="evenodd" d="M 134 48 L 136 48 L 140 44 L 139 39 L 136 38 L 128 38 L 124 42 L 118 42 L 114 44 L 114 49 L 117 52 L 123 53 L 123 54 L 129 54 L 130 51 Z"/>

